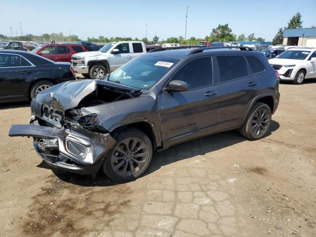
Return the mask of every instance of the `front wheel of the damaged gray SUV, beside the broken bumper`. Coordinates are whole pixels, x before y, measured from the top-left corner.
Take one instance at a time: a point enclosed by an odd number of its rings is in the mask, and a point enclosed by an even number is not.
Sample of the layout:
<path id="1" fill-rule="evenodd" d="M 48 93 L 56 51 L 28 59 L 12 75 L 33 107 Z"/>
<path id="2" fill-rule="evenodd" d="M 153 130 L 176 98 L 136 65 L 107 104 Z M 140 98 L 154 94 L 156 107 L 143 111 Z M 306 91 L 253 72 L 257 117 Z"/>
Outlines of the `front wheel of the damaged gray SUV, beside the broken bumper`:
<path id="1" fill-rule="evenodd" d="M 103 172 L 113 181 L 128 182 L 140 177 L 153 157 L 151 140 L 136 128 L 118 134 L 116 143 L 107 154 Z"/>

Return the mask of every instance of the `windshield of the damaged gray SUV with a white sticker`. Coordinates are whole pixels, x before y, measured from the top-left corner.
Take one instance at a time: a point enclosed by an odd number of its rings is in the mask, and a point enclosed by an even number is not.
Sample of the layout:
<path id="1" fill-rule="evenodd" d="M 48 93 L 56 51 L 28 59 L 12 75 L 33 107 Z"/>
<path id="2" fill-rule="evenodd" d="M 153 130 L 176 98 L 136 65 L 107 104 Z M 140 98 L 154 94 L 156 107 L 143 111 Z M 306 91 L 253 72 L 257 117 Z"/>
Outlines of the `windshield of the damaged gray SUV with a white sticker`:
<path id="1" fill-rule="evenodd" d="M 178 62 L 178 59 L 172 58 L 137 57 L 109 74 L 106 79 L 139 89 L 149 89 Z"/>

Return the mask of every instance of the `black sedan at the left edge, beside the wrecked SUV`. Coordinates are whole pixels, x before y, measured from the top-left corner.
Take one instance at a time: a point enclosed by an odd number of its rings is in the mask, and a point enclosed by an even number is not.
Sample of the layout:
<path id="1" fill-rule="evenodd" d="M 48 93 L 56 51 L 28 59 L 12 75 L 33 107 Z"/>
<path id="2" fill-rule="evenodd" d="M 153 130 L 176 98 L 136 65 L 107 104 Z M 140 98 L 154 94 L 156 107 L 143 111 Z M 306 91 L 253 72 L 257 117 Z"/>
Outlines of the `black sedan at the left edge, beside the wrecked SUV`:
<path id="1" fill-rule="evenodd" d="M 24 51 L 0 50 L 0 102 L 30 100 L 43 89 L 74 79 L 70 63 Z"/>

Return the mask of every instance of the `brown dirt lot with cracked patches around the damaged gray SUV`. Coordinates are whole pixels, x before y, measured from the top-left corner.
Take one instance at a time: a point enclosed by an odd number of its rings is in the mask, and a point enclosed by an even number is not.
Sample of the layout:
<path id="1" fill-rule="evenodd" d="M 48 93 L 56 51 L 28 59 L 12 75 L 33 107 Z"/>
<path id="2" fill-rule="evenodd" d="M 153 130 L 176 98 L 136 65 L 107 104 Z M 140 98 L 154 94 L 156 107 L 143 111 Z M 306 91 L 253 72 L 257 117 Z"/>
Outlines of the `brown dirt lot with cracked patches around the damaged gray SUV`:
<path id="1" fill-rule="evenodd" d="M 177 145 L 125 184 L 52 170 L 7 136 L 28 103 L 0 105 L 0 236 L 316 237 L 316 80 L 280 93 L 264 139 Z"/>

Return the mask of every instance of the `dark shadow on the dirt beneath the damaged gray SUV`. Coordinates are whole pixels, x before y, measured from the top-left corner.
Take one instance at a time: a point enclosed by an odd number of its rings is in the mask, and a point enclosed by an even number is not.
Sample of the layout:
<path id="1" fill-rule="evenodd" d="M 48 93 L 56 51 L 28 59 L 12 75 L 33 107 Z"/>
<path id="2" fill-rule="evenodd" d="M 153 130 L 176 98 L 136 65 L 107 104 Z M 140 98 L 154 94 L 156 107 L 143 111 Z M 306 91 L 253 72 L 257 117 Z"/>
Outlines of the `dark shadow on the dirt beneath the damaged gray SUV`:
<path id="1" fill-rule="evenodd" d="M 280 125 L 277 121 L 272 120 L 270 130 L 266 137 L 270 136 L 274 131 L 276 131 L 279 126 Z M 207 153 L 214 152 L 244 141 L 247 141 L 247 139 L 241 136 L 237 130 L 232 130 L 175 145 L 162 152 L 155 153 L 148 170 L 143 176 L 151 174 L 160 169 L 162 166 L 168 165 L 170 163 L 192 158 L 198 155 L 205 155 Z M 79 175 L 54 169 L 44 161 L 42 161 L 38 167 L 51 169 L 59 179 L 78 186 L 94 187 L 113 186 L 120 184 L 107 178 L 103 173 L 102 168 L 99 170 L 96 177 L 93 178 L 90 175 Z"/>

